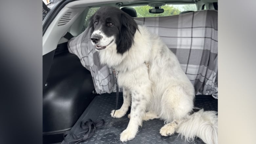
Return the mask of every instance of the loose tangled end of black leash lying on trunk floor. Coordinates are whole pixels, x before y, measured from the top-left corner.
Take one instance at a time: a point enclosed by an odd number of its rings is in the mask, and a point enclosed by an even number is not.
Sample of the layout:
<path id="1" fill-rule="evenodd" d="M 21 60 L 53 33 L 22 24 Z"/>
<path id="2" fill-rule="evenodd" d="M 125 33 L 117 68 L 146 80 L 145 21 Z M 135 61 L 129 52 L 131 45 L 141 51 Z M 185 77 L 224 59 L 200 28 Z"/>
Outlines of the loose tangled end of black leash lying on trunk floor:
<path id="1" fill-rule="evenodd" d="M 79 142 L 83 142 L 86 139 L 92 137 L 96 129 L 102 129 L 104 127 L 104 124 L 105 124 L 105 121 L 103 119 L 98 119 L 95 122 L 93 122 L 91 119 L 88 119 L 86 121 L 85 120 L 81 121 L 80 128 L 85 131 L 79 133 L 78 136 L 75 135 L 74 133 L 72 133 L 71 131 L 66 131 L 63 134 L 64 141 L 66 141 L 68 143 L 75 142 L 75 144 L 77 144 Z M 66 136 L 68 134 L 72 135 L 71 139 L 66 138 Z M 79 138 L 83 134 L 84 134 L 84 136 L 82 138 Z"/>

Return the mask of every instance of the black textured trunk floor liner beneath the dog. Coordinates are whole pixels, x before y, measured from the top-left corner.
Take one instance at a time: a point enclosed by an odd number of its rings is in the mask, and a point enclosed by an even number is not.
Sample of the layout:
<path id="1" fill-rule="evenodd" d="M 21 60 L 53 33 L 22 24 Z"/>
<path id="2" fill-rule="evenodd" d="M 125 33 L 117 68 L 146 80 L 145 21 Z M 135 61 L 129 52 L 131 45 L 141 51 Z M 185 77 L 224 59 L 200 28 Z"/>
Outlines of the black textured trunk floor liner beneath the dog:
<path id="1" fill-rule="evenodd" d="M 122 93 L 119 93 L 118 107 L 119 109 L 122 105 L 123 98 Z M 123 130 L 126 129 L 129 118 L 127 115 L 130 113 L 129 111 L 125 116 L 121 118 L 112 118 L 110 113 L 115 109 L 116 103 L 116 93 L 111 94 L 101 94 L 97 95 L 78 121 L 75 123 L 74 127 L 71 129 L 76 135 L 79 135 L 83 130 L 80 128 L 80 123 L 82 120 L 92 119 L 95 121 L 96 119 L 104 119 L 105 127 L 102 129 L 96 129 L 95 134 L 89 139 L 81 143 L 87 144 L 111 144 L 111 143 L 122 143 L 120 141 L 119 135 Z M 195 98 L 195 107 L 203 108 L 205 111 L 218 111 L 218 100 L 214 99 L 210 95 L 197 95 Z M 159 133 L 160 128 L 164 125 L 164 121 L 160 119 L 153 119 L 149 121 L 143 121 L 142 127 L 139 127 L 139 131 L 133 140 L 124 142 L 124 144 L 204 144 L 201 139 L 196 138 L 194 142 L 185 142 L 184 138 L 178 136 L 177 133 L 171 136 L 161 136 Z M 82 138 L 80 136 L 79 138 Z M 68 134 L 66 138 L 70 139 L 72 136 Z M 73 144 L 75 142 L 65 142 L 62 141 L 61 144 Z"/>

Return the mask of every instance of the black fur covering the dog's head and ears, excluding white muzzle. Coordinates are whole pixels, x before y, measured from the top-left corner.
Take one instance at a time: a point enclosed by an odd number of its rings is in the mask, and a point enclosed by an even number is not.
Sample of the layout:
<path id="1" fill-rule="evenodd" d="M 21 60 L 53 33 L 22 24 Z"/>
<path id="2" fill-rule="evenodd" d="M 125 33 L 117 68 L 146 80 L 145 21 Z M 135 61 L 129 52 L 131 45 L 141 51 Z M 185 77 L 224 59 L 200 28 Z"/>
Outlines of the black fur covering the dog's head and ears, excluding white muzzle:
<path id="1" fill-rule="evenodd" d="M 95 21 L 98 22 L 97 25 L 95 25 Z M 108 27 L 108 22 L 113 23 L 114 26 Z M 123 54 L 132 47 L 134 34 L 139 30 L 137 23 L 130 15 L 111 6 L 104 6 L 96 11 L 90 18 L 89 27 L 92 28 L 91 34 L 94 30 L 100 28 L 107 36 L 114 35 L 116 38 L 117 53 L 120 54 Z"/>

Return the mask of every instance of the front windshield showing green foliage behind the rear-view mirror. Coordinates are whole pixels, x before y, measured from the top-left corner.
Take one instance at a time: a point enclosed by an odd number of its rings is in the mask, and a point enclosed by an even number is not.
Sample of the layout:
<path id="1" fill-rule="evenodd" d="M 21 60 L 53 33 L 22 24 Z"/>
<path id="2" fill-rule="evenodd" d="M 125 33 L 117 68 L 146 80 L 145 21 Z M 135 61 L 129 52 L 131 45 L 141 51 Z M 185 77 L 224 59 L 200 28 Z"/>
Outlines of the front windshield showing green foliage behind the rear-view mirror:
<path id="1" fill-rule="evenodd" d="M 148 12 L 149 9 L 152 9 L 150 6 L 134 6 L 133 8 L 136 10 L 138 17 L 169 16 L 180 14 L 181 11 L 197 10 L 196 4 L 165 5 L 161 7 L 164 12 L 157 14 Z"/>

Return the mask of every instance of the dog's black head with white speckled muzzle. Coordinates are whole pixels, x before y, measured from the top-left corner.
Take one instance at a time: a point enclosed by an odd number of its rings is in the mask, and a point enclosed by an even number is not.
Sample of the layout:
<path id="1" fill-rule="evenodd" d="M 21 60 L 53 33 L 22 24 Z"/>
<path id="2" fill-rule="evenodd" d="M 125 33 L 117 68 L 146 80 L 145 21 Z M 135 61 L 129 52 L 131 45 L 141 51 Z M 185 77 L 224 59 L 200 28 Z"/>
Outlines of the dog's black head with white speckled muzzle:
<path id="1" fill-rule="evenodd" d="M 128 51 L 138 30 L 134 19 L 122 10 L 105 6 L 101 7 L 90 18 L 92 28 L 91 41 L 97 51 L 103 51 L 116 44 L 117 53 Z"/>

